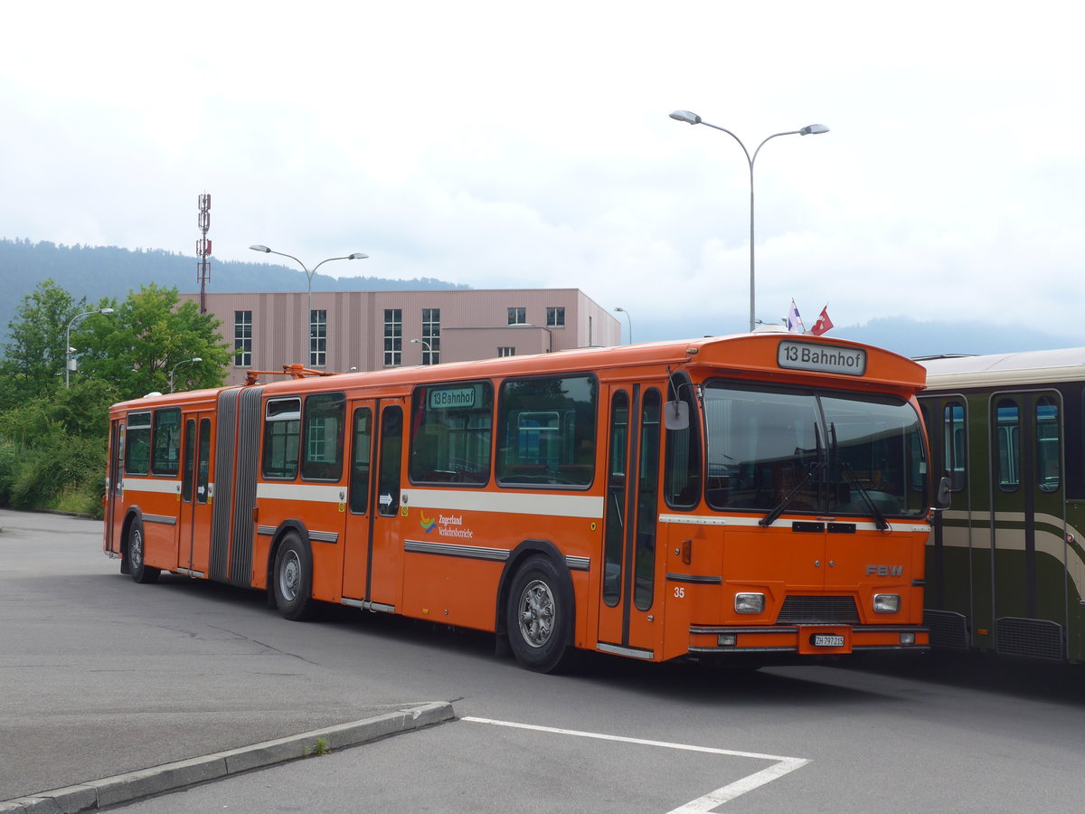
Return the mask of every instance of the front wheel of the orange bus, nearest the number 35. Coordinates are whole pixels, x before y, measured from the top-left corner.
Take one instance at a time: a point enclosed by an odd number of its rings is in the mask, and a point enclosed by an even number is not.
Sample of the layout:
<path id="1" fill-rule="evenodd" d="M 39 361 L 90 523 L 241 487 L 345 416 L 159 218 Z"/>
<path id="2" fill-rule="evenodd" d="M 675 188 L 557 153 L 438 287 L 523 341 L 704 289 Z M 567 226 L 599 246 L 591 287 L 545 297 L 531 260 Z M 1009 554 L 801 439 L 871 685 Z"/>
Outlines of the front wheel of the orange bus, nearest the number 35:
<path id="1" fill-rule="evenodd" d="M 532 557 L 509 590 L 506 628 L 516 661 L 536 673 L 552 673 L 572 656 L 573 602 L 566 581 L 547 557 Z"/>

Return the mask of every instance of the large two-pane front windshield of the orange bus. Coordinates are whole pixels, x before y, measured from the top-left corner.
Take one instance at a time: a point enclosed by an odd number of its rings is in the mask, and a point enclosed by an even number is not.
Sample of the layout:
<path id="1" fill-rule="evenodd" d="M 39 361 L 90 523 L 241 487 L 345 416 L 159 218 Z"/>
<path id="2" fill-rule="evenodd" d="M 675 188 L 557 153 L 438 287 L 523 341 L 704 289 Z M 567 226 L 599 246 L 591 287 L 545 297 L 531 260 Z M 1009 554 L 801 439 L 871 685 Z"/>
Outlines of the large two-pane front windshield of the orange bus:
<path id="1" fill-rule="evenodd" d="M 901 398 L 711 381 L 704 387 L 709 505 L 920 517 L 927 459 Z"/>

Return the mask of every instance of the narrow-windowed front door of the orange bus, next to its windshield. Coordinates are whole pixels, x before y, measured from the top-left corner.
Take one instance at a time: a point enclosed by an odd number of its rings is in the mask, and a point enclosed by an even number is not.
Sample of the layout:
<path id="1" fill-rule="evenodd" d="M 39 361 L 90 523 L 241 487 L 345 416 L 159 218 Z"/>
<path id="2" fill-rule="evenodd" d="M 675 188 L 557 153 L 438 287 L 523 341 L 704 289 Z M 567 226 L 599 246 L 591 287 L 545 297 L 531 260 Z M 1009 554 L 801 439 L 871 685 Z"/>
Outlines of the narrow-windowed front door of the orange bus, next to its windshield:
<path id="1" fill-rule="evenodd" d="M 663 640 L 655 555 L 662 396 L 635 384 L 612 387 L 609 402 L 599 649 L 651 659 Z"/>

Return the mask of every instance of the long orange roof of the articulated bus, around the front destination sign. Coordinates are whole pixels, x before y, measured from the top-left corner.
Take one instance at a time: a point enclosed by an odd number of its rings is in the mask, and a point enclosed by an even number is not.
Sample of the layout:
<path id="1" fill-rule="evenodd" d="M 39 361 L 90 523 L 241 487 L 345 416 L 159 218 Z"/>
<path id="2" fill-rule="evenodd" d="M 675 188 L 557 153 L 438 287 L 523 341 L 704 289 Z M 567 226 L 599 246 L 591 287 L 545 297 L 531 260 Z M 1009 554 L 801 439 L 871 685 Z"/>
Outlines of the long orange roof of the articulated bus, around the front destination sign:
<path id="1" fill-rule="evenodd" d="M 722 370 L 732 368 L 760 372 L 776 381 L 784 382 L 835 378 L 832 373 L 817 370 L 782 369 L 778 361 L 778 348 L 781 341 L 797 342 L 820 348 L 863 348 L 867 354 L 865 374 L 842 377 L 847 384 L 858 389 L 876 387 L 910 395 L 923 387 L 924 370 L 922 366 L 898 354 L 847 340 L 796 335 L 777 331 L 703 336 L 684 341 L 648 342 L 637 345 L 582 347 L 531 356 L 506 356 L 475 361 L 387 368 L 354 373 L 335 373 L 331 377 L 269 380 L 261 382 L 261 384 L 268 395 L 278 392 L 298 393 L 327 390 L 331 379 L 334 379 L 340 387 L 401 386 L 406 392 L 413 384 L 422 382 L 501 377 L 505 374 L 533 376 L 575 370 L 601 372 L 616 367 L 635 368 L 642 373 L 653 371 L 652 374 L 662 374 L 667 367 L 672 369 L 687 367 Z M 154 406 L 192 400 L 210 403 L 220 390 L 222 389 L 170 395 L 154 393 L 143 398 L 114 405 L 114 409 L 148 407 L 151 406 L 149 402 L 152 398 Z"/>

